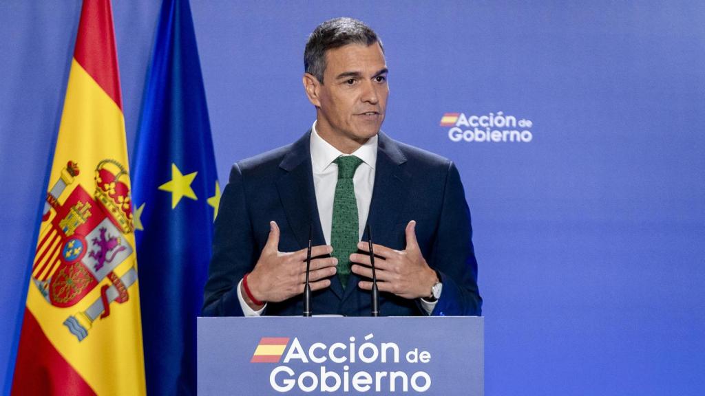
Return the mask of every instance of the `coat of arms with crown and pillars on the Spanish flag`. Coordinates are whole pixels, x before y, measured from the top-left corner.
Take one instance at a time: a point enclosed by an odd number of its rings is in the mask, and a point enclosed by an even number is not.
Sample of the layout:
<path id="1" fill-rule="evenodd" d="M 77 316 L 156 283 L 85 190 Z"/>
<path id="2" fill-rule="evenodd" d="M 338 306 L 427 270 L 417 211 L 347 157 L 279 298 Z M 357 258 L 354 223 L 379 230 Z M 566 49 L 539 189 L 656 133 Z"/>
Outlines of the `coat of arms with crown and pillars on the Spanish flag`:
<path id="1" fill-rule="evenodd" d="M 100 297 L 63 323 L 80 341 L 98 317 L 109 316 L 112 302 L 128 301 L 137 271 L 133 264 L 120 276 L 114 272 L 133 253 L 125 238 L 133 232 L 127 171 L 118 161 L 100 161 L 92 194 L 75 182 L 79 173 L 78 164 L 68 161 L 47 192 L 32 282 L 49 304 L 61 308 L 73 307 L 102 284 Z"/>

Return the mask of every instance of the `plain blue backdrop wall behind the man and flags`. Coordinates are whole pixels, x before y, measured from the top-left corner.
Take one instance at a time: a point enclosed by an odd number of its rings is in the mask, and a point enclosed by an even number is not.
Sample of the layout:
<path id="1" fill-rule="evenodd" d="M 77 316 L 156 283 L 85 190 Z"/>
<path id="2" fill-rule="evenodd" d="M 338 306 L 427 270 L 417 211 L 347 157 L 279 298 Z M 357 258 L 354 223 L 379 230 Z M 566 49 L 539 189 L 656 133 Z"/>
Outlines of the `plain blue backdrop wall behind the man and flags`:
<path id="1" fill-rule="evenodd" d="M 158 12 L 114 4 L 130 150 Z M 453 159 L 465 184 L 487 395 L 705 392 L 703 2 L 192 1 L 192 12 L 221 183 L 233 161 L 311 125 L 300 80 L 318 23 L 354 16 L 381 35 L 383 129 Z M 79 1 L 0 5 L 4 390 L 79 14 Z M 441 125 L 446 113 L 460 118 Z M 480 124 L 510 117 L 522 125 Z M 492 130 L 531 139 L 494 142 Z"/>

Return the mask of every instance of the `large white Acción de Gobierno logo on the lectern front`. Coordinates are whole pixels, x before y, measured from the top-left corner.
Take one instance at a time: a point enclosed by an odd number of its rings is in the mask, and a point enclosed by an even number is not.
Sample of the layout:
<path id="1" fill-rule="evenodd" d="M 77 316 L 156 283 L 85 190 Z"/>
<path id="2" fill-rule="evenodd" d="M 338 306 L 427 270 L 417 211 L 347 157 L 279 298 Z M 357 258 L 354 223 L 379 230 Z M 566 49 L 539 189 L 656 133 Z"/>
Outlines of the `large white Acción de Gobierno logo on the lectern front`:
<path id="1" fill-rule="evenodd" d="M 331 345 L 302 345 L 298 338 L 263 337 L 250 363 L 278 364 L 269 374 L 269 385 L 281 393 L 372 391 L 386 395 L 431 388 L 429 373 L 417 370 L 431 361 L 429 351 L 411 348 L 404 353 L 395 342 L 378 343 L 373 338 L 372 333 L 365 335 L 364 342 L 357 346 L 355 337 Z M 369 364 L 377 371 L 350 371 L 350 364 L 355 363 Z M 395 370 L 386 371 L 389 367 Z"/>

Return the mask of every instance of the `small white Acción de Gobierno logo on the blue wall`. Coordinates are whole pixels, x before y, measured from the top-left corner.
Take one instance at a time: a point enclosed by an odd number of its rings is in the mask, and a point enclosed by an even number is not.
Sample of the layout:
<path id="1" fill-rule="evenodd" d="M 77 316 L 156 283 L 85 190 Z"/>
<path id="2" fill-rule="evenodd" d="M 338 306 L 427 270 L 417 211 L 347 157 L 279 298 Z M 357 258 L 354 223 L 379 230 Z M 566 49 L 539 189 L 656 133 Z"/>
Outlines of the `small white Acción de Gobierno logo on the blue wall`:
<path id="1" fill-rule="evenodd" d="M 527 118 L 517 118 L 498 111 L 487 114 L 445 113 L 441 126 L 448 129 L 451 142 L 517 142 L 529 143 L 534 139 L 532 126 Z"/>

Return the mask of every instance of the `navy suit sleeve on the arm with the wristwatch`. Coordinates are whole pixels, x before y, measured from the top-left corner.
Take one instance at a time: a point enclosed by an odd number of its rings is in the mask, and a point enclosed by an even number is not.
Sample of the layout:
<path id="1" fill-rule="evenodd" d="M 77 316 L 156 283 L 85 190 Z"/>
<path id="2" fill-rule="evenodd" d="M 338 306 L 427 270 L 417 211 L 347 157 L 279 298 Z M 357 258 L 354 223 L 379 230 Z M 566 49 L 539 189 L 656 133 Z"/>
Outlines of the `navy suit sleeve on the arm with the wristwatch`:
<path id="1" fill-rule="evenodd" d="M 482 297 L 477 287 L 477 259 L 472 245 L 470 209 L 460 174 L 448 166 L 438 234 L 429 265 L 441 273 L 443 291 L 431 316 L 480 316 Z"/>

